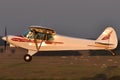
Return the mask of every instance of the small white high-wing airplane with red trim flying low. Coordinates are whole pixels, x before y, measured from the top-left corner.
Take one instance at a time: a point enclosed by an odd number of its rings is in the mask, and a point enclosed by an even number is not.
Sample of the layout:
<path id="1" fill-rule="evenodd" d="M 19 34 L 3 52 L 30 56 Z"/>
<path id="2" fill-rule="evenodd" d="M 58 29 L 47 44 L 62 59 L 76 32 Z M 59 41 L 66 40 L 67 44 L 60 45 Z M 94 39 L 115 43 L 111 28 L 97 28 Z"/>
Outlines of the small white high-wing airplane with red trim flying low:
<path id="1" fill-rule="evenodd" d="M 10 44 L 10 47 L 21 47 L 28 50 L 24 55 L 24 61 L 30 62 L 32 56 L 38 51 L 67 51 L 67 50 L 111 50 L 118 45 L 116 31 L 107 27 L 96 39 L 74 38 L 56 34 L 55 30 L 30 26 L 23 35 L 6 35 L 2 39 Z"/>

